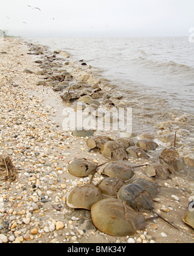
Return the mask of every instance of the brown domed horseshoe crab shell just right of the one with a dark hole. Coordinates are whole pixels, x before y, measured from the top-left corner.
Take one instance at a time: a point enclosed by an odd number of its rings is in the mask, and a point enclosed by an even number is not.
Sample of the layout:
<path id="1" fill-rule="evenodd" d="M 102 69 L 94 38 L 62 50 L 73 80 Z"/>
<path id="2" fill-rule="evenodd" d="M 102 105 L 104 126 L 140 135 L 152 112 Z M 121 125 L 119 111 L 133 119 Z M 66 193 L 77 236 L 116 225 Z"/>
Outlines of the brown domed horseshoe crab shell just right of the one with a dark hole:
<path id="1" fill-rule="evenodd" d="M 133 168 L 129 165 L 124 165 L 119 162 L 109 163 L 102 171 L 102 174 L 105 174 L 109 177 L 119 178 L 123 181 L 131 180 L 135 176 Z"/>

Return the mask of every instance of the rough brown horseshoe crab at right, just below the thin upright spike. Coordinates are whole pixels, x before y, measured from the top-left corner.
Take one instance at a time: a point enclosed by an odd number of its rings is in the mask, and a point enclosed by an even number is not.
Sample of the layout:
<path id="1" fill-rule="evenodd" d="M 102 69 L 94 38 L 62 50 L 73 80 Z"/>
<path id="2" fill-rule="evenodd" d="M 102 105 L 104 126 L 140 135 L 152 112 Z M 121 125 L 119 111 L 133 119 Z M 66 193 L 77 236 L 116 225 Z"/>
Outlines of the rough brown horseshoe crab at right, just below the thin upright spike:
<path id="1" fill-rule="evenodd" d="M 171 172 L 184 169 L 184 161 L 179 157 L 177 150 L 164 149 L 159 156 L 160 163 L 169 168 Z"/>

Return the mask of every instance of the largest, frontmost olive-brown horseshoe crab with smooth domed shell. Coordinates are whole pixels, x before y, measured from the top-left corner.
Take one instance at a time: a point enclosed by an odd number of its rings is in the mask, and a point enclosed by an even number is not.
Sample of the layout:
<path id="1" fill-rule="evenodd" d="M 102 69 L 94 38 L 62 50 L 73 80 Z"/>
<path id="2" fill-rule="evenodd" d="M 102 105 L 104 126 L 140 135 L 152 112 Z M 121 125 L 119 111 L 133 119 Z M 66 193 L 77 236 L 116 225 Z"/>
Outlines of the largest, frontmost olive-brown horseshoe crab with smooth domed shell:
<path id="1" fill-rule="evenodd" d="M 94 226 L 114 237 L 134 235 L 136 229 L 146 226 L 143 215 L 116 198 L 106 198 L 92 205 L 91 216 Z"/>

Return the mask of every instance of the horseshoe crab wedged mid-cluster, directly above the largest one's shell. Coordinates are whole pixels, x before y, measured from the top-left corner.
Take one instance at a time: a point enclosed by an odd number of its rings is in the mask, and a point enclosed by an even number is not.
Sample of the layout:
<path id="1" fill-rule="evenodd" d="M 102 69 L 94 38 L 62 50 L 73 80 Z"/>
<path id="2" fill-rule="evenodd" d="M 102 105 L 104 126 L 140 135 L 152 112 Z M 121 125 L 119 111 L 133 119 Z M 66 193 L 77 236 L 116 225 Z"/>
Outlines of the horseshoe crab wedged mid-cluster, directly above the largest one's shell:
<path id="1" fill-rule="evenodd" d="M 98 189 L 106 196 L 117 196 L 117 192 L 125 185 L 123 180 L 118 178 L 105 178 L 98 184 Z"/>

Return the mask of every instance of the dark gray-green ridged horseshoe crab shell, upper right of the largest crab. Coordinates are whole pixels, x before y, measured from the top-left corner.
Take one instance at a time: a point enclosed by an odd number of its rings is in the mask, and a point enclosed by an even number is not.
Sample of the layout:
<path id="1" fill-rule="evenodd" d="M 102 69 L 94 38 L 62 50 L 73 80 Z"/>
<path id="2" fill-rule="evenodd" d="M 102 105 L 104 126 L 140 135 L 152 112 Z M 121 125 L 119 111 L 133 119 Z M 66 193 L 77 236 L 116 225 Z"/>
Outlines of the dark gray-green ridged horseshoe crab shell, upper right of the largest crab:
<path id="1" fill-rule="evenodd" d="M 125 185 L 118 191 L 118 199 L 127 202 L 133 209 L 140 211 L 141 209 L 153 209 L 153 200 L 149 192 L 142 186 L 132 183 Z"/>

